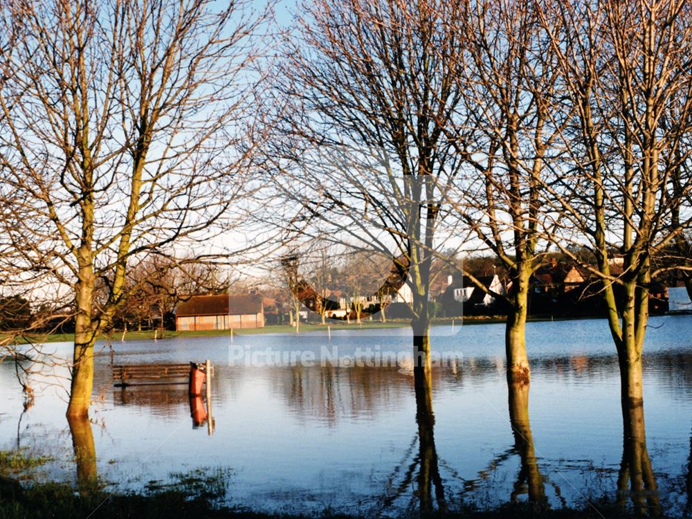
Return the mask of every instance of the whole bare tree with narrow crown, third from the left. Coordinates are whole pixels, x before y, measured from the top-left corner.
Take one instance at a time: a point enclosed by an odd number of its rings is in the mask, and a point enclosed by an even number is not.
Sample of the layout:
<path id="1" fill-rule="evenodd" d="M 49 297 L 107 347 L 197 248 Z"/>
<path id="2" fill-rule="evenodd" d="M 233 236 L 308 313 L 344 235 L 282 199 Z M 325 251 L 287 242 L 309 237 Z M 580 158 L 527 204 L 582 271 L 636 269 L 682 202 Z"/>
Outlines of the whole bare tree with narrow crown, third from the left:
<path id="1" fill-rule="evenodd" d="M 507 307 L 507 376 L 528 383 L 529 284 L 546 244 L 539 222 L 549 210 L 541 186 L 568 118 L 553 113 L 560 75 L 535 4 L 463 4 L 466 66 L 457 80 L 474 133 L 455 138 L 453 127 L 447 129 L 469 165 L 447 200 L 473 233 L 476 249 L 491 251 L 508 273 L 507 295 L 491 295 Z M 464 274 L 489 292 L 473 273 Z"/>

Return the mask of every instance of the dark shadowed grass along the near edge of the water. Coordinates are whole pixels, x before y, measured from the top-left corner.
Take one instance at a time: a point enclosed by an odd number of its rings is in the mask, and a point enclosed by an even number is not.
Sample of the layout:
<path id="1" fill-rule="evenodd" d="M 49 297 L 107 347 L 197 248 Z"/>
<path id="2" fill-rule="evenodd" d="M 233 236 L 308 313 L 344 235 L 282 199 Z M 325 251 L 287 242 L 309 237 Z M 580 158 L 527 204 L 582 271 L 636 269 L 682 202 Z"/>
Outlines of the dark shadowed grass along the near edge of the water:
<path id="1" fill-rule="evenodd" d="M 171 484 L 152 482 L 140 492 L 108 493 L 92 487 L 81 491 L 69 484 L 48 482 L 22 486 L 15 480 L 0 476 L 0 517 L 3 519 L 104 519 L 147 518 L 164 519 L 210 518 L 210 519 L 359 519 L 366 516 L 348 516 L 325 509 L 309 515 L 301 513 L 262 513 L 247 509 L 226 507 L 221 500 L 228 493 L 228 477 L 223 473 L 203 476 L 200 473 L 178 475 Z M 507 503 L 496 509 L 474 509 L 462 507 L 455 511 L 424 512 L 411 510 L 401 518 L 430 519 L 584 519 L 584 518 L 630 518 L 612 502 L 598 502 L 594 509 L 557 509 L 535 507 L 525 502 Z M 390 515 L 390 514 L 388 514 Z M 659 516 L 660 517 L 660 516 Z"/>

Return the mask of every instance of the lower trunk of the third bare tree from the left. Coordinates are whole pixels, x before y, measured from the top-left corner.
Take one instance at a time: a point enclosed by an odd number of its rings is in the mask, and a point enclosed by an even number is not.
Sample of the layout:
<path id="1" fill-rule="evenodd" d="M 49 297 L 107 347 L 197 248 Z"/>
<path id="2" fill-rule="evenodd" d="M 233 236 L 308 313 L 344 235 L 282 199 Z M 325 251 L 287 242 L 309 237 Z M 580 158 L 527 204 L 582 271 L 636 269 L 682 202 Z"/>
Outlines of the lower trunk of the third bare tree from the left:
<path id="1" fill-rule="evenodd" d="M 531 380 L 526 353 L 526 318 L 528 313 L 529 271 L 524 268 L 513 280 L 511 306 L 507 313 L 504 347 L 507 353 L 507 381 L 528 384 Z"/>

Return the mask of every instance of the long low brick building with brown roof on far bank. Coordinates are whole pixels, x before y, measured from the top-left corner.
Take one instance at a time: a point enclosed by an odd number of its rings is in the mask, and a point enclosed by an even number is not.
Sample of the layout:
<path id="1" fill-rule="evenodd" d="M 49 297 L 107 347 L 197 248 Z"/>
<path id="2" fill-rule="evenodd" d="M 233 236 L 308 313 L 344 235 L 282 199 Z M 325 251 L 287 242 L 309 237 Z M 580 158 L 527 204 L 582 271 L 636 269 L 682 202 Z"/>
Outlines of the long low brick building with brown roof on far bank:
<path id="1" fill-rule="evenodd" d="M 264 327 L 264 304 L 258 295 L 193 295 L 176 309 L 177 331 Z"/>

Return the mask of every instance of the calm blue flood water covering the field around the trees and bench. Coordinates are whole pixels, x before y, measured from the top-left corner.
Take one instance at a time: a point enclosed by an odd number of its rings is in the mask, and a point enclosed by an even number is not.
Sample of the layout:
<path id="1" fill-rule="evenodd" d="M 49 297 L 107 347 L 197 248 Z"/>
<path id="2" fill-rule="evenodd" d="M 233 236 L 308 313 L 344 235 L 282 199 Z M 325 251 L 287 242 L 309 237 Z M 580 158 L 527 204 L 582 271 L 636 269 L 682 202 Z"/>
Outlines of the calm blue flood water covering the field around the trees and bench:
<path id="1" fill-rule="evenodd" d="M 653 496 L 666 515 L 684 516 L 692 501 L 692 316 L 651 318 L 647 333 L 646 438 L 637 437 L 650 459 L 646 506 Z M 607 322 L 530 322 L 528 394 L 508 394 L 503 339 L 503 325 L 434 328 L 432 349 L 447 361 L 432 371 L 434 419 L 426 426 L 406 359 L 392 367 L 346 365 L 359 348 L 370 347 L 372 358 L 408 354 L 406 328 L 354 326 L 332 331 L 331 339 L 310 332 L 236 336 L 233 343 L 228 337 L 114 342 L 112 358 L 109 345 L 99 343 L 90 415 L 98 477 L 120 491 L 171 473 L 221 468 L 228 504 L 257 511 L 387 517 L 537 497 L 553 508 L 585 508 L 601 498 L 636 504 L 637 496 L 623 490 L 634 477 L 623 472 L 632 446 L 623 437 Z M 46 347 L 69 355 L 71 345 Z M 325 349 L 331 362 L 320 363 Z M 291 363 L 290 355 L 285 362 L 286 354 L 267 362 L 276 352 L 302 352 L 303 363 Z M 215 364 L 213 435 L 194 426 L 184 385 L 113 388 L 111 362 L 206 358 Z M 63 367 L 55 372 L 66 374 Z M 40 477 L 75 481 L 60 383 L 69 385 L 35 376 L 35 405 L 22 413 L 14 368 L 0 365 L 6 395 L 0 448 L 52 455 Z"/>

